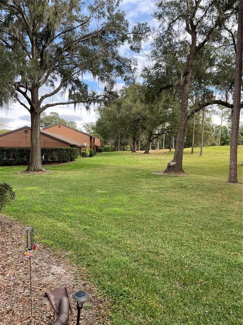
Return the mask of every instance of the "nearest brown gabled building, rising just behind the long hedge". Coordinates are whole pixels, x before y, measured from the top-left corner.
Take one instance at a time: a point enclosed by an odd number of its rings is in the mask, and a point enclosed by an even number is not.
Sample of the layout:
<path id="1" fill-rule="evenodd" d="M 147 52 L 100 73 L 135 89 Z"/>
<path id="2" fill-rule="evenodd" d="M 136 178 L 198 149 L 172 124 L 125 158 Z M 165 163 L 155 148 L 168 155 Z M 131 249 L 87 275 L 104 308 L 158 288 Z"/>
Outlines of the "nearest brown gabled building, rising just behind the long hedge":
<path id="1" fill-rule="evenodd" d="M 23 126 L 0 135 L 0 147 L 30 147 L 31 129 Z M 41 130 L 41 147 L 75 147 L 78 153 L 85 150 L 85 144 L 61 135 Z"/>

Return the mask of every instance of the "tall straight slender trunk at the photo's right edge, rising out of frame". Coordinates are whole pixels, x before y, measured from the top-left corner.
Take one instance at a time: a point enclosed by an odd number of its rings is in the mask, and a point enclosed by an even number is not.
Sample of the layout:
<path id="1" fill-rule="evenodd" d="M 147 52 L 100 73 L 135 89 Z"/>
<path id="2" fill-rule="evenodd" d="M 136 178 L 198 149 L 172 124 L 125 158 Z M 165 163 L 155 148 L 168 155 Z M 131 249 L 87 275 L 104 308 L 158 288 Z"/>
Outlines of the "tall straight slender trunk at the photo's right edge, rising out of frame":
<path id="1" fill-rule="evenodd" d="M 242 48 L 243 48 L 242 41 L 243 41 L 243 2 L 239 1 L 228 183 L 238 182 L 237 145 L 238 145 L 238 132 L 239 132 L 240 88 L 241 88 L 241 75 L 242 75 Z"/>

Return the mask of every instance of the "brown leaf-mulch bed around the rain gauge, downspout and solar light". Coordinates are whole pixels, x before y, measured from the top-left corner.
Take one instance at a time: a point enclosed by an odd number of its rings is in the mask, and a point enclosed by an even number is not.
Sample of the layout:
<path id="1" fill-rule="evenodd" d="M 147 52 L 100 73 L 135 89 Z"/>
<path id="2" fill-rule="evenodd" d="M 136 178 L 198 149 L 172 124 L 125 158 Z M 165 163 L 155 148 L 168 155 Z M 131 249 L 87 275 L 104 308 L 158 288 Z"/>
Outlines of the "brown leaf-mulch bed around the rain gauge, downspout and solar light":
<path id="1" fill-rule="evenodd" d="M 0 324 L 52 324 L 57 318 L 45 291 L 68 287 L 73 315 L 68 324 L 76 324 L 76 305 L 71 295 L 78 290 L 89 293 L 80 324 L 103 323 L 107 302 L 95 297 L 94 288 L 82 281 L 80 270 L 68 264 L 65 253 L 37 243 L 31 256 L 33 316 L 30 317 L 29 259 L 25 252 L 25 228 L 15 220 L 0 215 Z M 108 305 L 107 305 L 108 306 Z M 102 309 L 101 318 L 99 312 Z"/>

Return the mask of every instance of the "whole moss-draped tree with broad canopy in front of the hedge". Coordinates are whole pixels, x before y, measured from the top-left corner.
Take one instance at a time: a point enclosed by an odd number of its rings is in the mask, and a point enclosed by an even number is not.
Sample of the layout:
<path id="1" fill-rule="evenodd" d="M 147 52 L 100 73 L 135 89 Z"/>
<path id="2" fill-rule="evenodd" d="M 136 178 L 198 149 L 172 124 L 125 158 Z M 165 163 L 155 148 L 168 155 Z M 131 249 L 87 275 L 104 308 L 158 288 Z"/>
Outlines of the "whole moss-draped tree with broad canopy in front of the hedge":
<path id="1" fill-rule="evenodd" d="M 128 81 L 134 62 L 118 48 L 129 42 L 138 51 L 147 27 L 129 30 L 118 0 L 1 0 L 0 5 L 0 104 L 14 100 L 30 113 L 27 171 L 41 171 L 40 114 L 57 105 L 89 108 L 100 100 L 82 79 L 85 73 L 104 83 L 105 93 L 117 76 Z M 59 92 L 66 100 L 53 101 Z"/>

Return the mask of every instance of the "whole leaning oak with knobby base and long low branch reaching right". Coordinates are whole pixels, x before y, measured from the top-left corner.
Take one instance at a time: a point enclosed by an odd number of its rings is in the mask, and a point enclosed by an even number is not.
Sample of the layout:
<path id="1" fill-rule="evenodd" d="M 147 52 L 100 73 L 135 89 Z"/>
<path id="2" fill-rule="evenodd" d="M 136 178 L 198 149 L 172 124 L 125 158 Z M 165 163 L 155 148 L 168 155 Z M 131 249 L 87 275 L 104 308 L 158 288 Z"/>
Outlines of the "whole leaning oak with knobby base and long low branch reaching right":
<path id="1" fill-rule="evenodd" d="M 236 1 L 223 0 L 182 0 L 177 1 L 157 1 L 155 18 L 160 22 L 160 30 L 155 39 L 155 60 L 158 57 L 158 49 L 163 49 L 164 65 L 161 69 L 168 70 L 171 78 L 173 67 L 176 70 L 176 82 L 180 91 L 180 121 L 176 139 L 174 158 L 168 164 L 167 173 L 183 173 L 182 159 L 186 126 L 189 118 L 197 111 L 212 104 L 225 105 L 231 107 L 222 100 L 207 100 L 200 103 L 192 110 L 188 107 L 191 80 L 194 72 L 194 62 L 199 61 L 204 64 L 203 50 L 207 44 L 214 41 L 215 47 L 220 47 L 220 32 L 224 23 L 232 17 L 232 8 Z M 167 67 L 165 69 L 165 63 Z M 170 86 L 170 83 L 169 85 Z M 162 87 L 163 88 L 163 87 Z"/>

